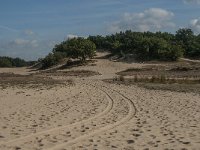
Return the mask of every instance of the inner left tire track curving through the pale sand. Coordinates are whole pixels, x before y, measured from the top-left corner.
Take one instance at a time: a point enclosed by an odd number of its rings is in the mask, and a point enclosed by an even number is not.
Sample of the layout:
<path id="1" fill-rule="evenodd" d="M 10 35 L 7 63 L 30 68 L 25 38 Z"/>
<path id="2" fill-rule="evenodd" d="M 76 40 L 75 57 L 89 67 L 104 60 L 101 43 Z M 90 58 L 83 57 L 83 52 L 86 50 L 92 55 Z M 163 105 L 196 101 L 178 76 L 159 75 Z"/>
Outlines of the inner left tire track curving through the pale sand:
<path id="1" fill-rule="evenodd" d="M 40 136 L 40 135 L 43 135 L 43 134 L 46 134 L 46 133 L 49 133 L 49 132 L 62 130 L 62 129 L 65 129 L 65 128 L 68 128 L 68 127 L 73 127 L 73 126 L 80 125 L 80 124 L 83 124 L 83 123 L 87 123 L 87 122 L 92 121 L 92 120 L 94 120 L 96 118 L 99 118 L 101 116 L 106 115 L 107 113 L 109 113 L 112 110 L 114 102 L 113 102 L 113 99 L 110 97 L 110 95 L 108 93 L 106 93 L 103 90 L 101 90 L 101 91 L 106 94 L 106 97 L 107 97 L 107 100 L 108 100 L 108 105 L 107 105 L 106 109 L 103 112 L 97 114 L 96 116 L 93 116 L 91 118 L 88 118 L 88 119 L 85 119 L 85 120 L 81 120 L 81 121 L 78 121 L 78 122 L 75 122 L 73 124 L 69 124 L 69 125 L 66 125 L 66 126 L 56 127 L 56 128 L 52 128 L 52 129 L 49 129 L 49 130 L 33 133 L 33 134 L 30 134 L 30 135 L 27 135 L 27 136 L 23 136 L 23 137 L 20 137 L 20 138 L 14 139 L 14 140 L 10 140 L 10 141 L 7 141 L 7 142 L 0 142 L 0 146 L 1 145 L 7 145 L 7 144 L 15 143 L 15 142 L 18 142 L 18 141 L 22 141 L 22 140 L 25 140 L 27 138 Z"/>

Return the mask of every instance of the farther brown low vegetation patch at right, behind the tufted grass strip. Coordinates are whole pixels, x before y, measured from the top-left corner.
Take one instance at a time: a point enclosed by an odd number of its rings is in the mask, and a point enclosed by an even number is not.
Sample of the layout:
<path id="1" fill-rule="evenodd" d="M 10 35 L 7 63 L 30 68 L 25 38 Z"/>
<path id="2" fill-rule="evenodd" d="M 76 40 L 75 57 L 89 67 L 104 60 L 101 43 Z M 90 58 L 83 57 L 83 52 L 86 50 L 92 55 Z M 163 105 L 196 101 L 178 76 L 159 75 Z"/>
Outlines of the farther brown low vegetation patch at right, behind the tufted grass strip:
<path id="1" fill-rule="evenodd" d="M 139 78 L 165 76 L 166 78 L 200 78 L 198 63 L 171 63 L 164 65 L 146 65 L 141 68 L 129 68 L 116 73 L 121 76 L 138 76 Z"/>

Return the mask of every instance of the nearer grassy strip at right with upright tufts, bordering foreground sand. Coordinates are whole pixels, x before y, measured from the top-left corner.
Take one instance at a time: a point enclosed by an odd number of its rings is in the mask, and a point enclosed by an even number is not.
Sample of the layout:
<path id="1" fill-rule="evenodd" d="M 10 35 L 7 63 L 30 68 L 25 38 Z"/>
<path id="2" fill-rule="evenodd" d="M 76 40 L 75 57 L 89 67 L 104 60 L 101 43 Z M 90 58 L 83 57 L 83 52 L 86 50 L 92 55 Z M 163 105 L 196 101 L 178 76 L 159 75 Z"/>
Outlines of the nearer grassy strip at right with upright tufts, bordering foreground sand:
<path id="1" fill-rule="evenodd" d="M 150 78 L 135 76 L 133 79 L 126 79 L 124 76 L 119 76 L 104 81 L 111 84 L 136 85 L 150 90 L 200 93 L 200 79 L 168 79 L 165 76 Z"/>

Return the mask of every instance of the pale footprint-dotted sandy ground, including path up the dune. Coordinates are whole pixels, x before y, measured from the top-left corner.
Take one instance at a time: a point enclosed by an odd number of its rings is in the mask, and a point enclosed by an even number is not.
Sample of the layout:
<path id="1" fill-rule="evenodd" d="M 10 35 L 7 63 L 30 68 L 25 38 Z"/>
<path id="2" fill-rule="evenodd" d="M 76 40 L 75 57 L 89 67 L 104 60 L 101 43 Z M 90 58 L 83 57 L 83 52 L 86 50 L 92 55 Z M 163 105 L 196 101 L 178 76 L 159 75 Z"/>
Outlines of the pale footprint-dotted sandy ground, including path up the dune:
<path id="1" fill-rule="evenodd" d="M 97 59 L 73 85 L 0 91 L 1 150 L 199 150 L 200 95 L 103 82 L 142 64 Z M 25 68 L 0 72 L 28 74 Z"/>

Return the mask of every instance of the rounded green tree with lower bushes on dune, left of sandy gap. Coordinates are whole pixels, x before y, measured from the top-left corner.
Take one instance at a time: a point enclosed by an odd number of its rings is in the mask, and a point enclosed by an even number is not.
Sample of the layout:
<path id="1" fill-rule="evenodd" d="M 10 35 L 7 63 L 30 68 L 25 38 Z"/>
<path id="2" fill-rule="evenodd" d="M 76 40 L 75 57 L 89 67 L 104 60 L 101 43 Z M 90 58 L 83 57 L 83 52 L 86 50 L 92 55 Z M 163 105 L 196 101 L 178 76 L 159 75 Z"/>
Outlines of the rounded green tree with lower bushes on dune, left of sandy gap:
<path id="1" fill-rule="evenodd" d="M 42 62 L 42 68 L 58 64 L 64 58 L 80 59 L 84 62 L 92 58 L 96 53 L 96 46 L 93 42 L 84 38 L 73 38 L 55 45 L 53 52 L 48 54 Z"/>

